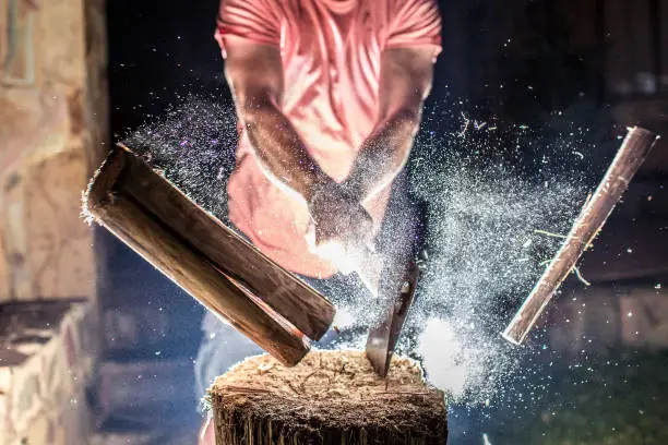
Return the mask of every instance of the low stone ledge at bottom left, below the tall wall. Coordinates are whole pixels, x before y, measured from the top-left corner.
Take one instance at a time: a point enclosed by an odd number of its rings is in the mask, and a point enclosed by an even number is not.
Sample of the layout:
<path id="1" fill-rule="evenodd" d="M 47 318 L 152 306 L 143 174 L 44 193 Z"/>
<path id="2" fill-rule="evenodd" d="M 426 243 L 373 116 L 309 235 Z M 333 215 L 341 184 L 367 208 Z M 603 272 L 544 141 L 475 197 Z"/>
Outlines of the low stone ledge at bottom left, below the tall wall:
<path id="1" fill-rule="evenodd" d="M 0 304 L 0 444 L 85 445 L 98 353 L 95 304 Z"/>

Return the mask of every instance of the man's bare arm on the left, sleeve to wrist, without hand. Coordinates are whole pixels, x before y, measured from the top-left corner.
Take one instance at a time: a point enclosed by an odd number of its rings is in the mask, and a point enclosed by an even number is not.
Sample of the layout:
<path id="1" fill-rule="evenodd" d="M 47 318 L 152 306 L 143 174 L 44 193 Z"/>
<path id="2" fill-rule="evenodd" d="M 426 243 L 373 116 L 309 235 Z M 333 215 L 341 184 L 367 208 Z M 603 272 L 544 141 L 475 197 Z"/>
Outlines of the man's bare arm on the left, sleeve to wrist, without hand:
<path id="1" fill-rule="evenodd" d="M 226 37 L 225 74 L 237 116 L 267 176 L 310 202 L 314 185 L 329 178 L 307 153 L 299 135 L 283 115 L 281 51 L 243 38 Z"/>

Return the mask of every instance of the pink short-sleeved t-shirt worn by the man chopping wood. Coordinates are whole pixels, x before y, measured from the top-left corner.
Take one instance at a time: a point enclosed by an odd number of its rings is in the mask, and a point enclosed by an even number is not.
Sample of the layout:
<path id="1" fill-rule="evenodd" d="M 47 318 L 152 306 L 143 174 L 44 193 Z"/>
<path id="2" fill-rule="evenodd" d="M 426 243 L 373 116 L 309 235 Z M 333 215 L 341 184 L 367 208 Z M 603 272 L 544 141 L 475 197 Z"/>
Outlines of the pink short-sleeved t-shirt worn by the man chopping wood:
<path id="1" fill-rule="evenodd" d="M 377 123 L 381 53 L 385 48 L 441 50 L 436 0 L 222 0 L 216 39 L 274 45 L 284 71 L 283 113 L 322 170 L 341 182 Z M 365 203 L 375 229 L 390 188 Z M 306 204 L 261 171 L 241 130 L 228 184 L 231 221 L 285 268 L 326 278 L 336 272 L 305 240 Z"/>

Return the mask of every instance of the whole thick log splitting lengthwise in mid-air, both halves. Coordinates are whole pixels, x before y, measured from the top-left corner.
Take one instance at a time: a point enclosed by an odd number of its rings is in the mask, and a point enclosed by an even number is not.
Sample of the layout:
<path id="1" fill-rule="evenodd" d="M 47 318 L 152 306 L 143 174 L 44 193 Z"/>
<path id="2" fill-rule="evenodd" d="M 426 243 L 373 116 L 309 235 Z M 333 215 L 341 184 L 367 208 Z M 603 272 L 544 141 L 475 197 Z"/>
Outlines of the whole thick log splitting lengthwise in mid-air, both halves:
<path id="1" fill-rule="evenodd" d="M 91 182 L 88 214 L 283 363 L 320 338 L 334 306 L 116 147 Z M 300 332 L 301 330 L 301 332 Z"/>

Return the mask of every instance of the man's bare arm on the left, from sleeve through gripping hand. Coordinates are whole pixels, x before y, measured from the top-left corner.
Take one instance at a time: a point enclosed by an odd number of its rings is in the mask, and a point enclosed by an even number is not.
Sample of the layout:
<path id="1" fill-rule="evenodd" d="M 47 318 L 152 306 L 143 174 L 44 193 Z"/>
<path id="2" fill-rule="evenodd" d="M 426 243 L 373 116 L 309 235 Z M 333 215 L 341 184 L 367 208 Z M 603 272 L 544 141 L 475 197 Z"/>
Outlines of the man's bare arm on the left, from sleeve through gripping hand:
<path id="1" fill-rule="evenodd" d="M 283 64 L 278 48 L 226 37 L 225 73 L 255 156 L 278 187 L 301 196 L 315 222 L 314 245 L 330 240 L 356 244 L 371 232 L 371 217 L 309 156 L 281 111 Z"/>

